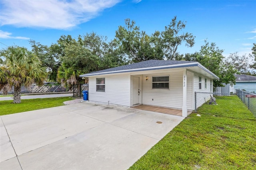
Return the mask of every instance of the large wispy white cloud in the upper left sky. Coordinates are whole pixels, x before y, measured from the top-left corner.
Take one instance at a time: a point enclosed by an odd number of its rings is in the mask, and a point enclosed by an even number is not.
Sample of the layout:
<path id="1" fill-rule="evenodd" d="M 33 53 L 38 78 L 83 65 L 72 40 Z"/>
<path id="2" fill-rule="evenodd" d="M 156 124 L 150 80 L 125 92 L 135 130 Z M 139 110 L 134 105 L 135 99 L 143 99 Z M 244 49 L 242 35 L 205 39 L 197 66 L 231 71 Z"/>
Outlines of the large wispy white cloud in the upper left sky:
<path id="1" fill-rule="evenodd" d="M 120 0 L 1 0 L 1 25 L 68 29 Z"/>

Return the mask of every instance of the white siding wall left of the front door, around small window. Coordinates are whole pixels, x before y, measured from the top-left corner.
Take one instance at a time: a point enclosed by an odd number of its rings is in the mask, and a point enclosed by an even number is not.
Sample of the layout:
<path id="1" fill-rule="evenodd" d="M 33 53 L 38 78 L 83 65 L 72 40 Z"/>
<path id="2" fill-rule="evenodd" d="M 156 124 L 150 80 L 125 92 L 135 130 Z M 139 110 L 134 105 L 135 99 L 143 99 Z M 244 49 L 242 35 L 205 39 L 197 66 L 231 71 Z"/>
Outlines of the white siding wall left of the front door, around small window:
<path id="1" fill-rule="evenodd" d="M 105 92 L 96 91 L 96 78 L 105 78 Z M 130 75 L 102 75 L 89 78 L 89 101 L 130 106 Z"/>

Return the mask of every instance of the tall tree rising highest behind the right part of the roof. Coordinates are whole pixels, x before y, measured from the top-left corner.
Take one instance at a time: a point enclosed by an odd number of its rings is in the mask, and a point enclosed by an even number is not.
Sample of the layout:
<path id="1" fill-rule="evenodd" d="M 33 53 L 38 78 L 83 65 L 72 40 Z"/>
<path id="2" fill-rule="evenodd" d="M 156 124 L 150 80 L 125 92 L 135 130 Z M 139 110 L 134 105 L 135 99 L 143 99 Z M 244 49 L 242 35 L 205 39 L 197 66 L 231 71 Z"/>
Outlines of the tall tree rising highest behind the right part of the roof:
<path id="1" fill-rule="evenodd" d="M 174 16 L 170 25 L 166 26 L 161 33 L 165 59 L 180 60 L 182 55 L 178 52 L 178 47 L 182 43 L 185 43 L 187 47 L 194 45 L 195 36 L 188 32 L 181 32 L 185 28 L 186 22 L 177 21 L 177 17 Z"/>

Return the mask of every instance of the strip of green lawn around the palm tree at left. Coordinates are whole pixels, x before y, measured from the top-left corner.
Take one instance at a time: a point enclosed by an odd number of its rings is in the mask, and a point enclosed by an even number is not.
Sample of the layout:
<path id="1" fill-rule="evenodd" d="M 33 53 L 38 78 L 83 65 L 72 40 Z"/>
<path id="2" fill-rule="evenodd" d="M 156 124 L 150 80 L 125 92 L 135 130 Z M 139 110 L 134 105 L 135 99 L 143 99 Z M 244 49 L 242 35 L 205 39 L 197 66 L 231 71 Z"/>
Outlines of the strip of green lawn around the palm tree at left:
<path id="1" fill-rule="evenodd" d="M 0 101 L 0 115 L 9 115 L 38 109 L 46 109 L 50 107 L 63 106 L 64 101 L 73 100 L 72 97 L 54 97 L 43 99 L 22 99 L 21 103 L 14 104 L 10 101 Z"/>

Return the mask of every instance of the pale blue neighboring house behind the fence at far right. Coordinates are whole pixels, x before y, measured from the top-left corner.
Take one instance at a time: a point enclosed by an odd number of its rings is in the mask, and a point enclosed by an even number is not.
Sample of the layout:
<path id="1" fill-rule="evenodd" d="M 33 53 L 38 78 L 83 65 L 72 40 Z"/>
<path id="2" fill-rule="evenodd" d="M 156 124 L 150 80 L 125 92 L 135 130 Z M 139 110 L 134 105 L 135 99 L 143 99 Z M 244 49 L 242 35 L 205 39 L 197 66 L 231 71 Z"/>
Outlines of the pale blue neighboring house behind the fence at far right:
<path id="1" fill-rule="evenodd" d="M 256 76 L 235 74 L 236 84 L 230 85 L 230 92 L 236 93 L 236 89 L 246 90 L 250 93 L 256 92 Z"/>

